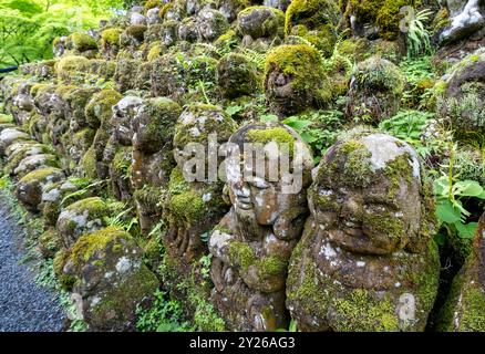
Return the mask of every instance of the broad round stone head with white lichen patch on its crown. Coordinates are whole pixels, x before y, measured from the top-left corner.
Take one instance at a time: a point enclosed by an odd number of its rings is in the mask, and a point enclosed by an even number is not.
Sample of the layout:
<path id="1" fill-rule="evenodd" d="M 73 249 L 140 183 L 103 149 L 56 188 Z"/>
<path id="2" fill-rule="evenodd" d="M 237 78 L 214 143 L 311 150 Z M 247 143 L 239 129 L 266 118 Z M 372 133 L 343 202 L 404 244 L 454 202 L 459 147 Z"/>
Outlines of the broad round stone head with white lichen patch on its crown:
<path id="1" fill-rule="evenodd" d="M 407 144 L 389 135 L 333 145 L 309 195 L 318 232 L 349 251 L 389 254 L 420 238 L 420 162 Z"/>

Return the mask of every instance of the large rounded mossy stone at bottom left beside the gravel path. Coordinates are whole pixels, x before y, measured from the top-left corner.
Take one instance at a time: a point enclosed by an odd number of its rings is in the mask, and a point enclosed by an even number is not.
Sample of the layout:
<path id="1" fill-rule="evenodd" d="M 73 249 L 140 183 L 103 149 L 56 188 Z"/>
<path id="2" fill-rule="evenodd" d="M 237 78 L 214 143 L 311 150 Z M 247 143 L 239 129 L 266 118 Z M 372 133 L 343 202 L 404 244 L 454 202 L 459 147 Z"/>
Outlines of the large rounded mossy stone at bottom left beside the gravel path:
<path id="1" fill-rule="evenodd" d="M 130 233 L 109 227 L 82 236 L 59 262 L 90 330 L 134 330 L 137 305 L 158 288 L 142 256 Z"/>

